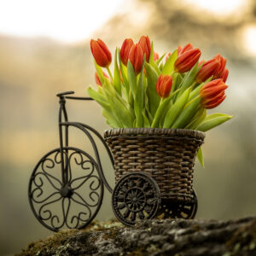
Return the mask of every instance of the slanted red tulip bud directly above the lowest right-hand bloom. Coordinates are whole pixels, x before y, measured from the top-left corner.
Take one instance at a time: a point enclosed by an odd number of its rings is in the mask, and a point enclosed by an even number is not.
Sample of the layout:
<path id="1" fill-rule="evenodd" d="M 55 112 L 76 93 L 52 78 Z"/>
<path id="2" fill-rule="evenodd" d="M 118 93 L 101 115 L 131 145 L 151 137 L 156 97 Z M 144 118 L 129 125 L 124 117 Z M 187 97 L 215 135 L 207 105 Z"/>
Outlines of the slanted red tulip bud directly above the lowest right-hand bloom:
<path id="1" fill-rule="evenodd" d="M 216 59 L 204 62 L 201 70 L 197 73 L 195 77 L 196 83 L 201 84 L 202 82 L 215 75 L 219 65 L 219 62 Z"/>

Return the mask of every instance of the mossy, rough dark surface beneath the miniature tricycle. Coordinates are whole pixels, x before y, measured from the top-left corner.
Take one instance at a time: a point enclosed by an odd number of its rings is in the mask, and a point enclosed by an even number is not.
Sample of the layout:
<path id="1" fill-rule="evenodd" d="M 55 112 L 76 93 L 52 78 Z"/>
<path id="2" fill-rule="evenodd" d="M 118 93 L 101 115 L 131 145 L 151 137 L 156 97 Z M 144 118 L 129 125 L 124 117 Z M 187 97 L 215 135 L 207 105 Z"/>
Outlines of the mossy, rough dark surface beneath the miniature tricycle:
<path id="1" fill-rule="evenodd" d="M 93 223 L 32 242 L 25 255 L 256 255 L 256 217 L 229 221 L 153 219 L 126 227 Z"/>

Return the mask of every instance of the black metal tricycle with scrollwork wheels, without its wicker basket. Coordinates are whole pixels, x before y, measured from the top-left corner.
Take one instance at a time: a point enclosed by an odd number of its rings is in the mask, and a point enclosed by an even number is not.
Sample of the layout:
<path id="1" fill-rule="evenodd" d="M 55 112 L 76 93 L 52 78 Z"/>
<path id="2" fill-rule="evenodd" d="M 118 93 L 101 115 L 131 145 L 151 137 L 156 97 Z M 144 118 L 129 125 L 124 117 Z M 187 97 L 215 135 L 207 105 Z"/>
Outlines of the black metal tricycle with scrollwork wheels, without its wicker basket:
<path id="1" fill-rule="evenodd" d="M 73 91 L 57 94 L 60 102 L 60 147 L 45 154 L 35 166 L 29 181 L 28 197 L 32 212 L 46 228 L 82 229 L 96 217 L 102 206 L 104 188 L 112 194 L 115 216 L 123 224 L 133 225 L 148 218 L 195 218 L 197 198 L 191 189 L 189 200 L 166 199 L 159 183 L 148 172 L 128 172 L 117 179 L 112 189 L 104 176 L 96 136 L 114 165 L 118 163 L 103 137 L 90 125 L 67 119 L 66 100 L 92 100 L 90 97 L 68 96 Z M 64 118 L 64 120 L 63 120 Z M 94 156 L 68 144 L 68 131 L 75 127 L 90 140 Z M 139 171 L 139 169 L 138 169 Z M 185 198 L 188 198 L 186 196 Z"/>

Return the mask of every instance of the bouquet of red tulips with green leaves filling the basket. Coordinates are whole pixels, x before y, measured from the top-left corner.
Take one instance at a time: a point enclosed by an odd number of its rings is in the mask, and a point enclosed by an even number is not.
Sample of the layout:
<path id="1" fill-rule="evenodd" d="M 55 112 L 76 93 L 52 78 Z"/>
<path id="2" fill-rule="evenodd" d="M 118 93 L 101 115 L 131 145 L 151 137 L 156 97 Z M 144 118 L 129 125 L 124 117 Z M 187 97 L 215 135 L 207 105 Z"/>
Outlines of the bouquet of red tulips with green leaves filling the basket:
<path id="1" fill-rule="evenodd" d="M 155 127 L 208 131 L 232 116 L 207 115 L 224 101 L 229 71 L 226 59 L 216 55 L 199 61 L 201 50 L 191 44 L 178 46 L 172 54 L 159 56 L 148 36 L 137 44 L 126 38 L 114 55 L 101 39 L 90 41 L 95 59 L 97 90 L 88 94 L 102 106 L 113 128 Z M 102 71 L 102 67 L 108 73 Z M 202 162 L 201 149 L 198 158 Z"/>

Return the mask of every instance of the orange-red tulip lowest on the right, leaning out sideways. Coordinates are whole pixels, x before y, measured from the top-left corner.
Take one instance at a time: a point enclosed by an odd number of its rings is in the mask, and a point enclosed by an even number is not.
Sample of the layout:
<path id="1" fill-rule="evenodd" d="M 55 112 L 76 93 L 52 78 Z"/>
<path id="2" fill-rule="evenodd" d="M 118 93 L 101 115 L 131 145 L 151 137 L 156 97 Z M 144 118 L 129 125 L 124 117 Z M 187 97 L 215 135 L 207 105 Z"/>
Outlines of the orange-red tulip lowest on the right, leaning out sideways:
<path id="1" fill-rule="evenodd" d="M 225 92 L 228 85 L 222 79 L 212 80 L 205 84 L 200 90 L 201 107 L 202 108 L 216 108 L 225 99 Z"/>

